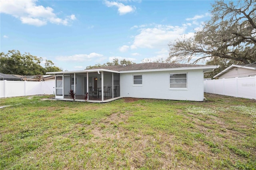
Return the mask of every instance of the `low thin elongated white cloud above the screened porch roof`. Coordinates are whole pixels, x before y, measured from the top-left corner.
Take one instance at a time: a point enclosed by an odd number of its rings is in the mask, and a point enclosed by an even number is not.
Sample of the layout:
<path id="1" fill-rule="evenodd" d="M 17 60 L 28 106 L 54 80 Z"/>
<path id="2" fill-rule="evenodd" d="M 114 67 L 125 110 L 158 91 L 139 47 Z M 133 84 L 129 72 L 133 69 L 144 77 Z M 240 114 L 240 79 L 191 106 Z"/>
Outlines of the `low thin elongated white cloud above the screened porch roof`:
<path id="1" fill-rule="evenodd" d="M 87 54 L 75 54 L 75 55 L 70 55 L 70 56 L 59 56 L 59 57 L 56 57 L 56 60 L 58 60 L 58 61 L 83 62 L 83 61 L 91 61 L 94 58 L 100 59 L 101 57 L 103 57 L 102 54 L 90 53 L 89 55 L 87 55 Z"/>

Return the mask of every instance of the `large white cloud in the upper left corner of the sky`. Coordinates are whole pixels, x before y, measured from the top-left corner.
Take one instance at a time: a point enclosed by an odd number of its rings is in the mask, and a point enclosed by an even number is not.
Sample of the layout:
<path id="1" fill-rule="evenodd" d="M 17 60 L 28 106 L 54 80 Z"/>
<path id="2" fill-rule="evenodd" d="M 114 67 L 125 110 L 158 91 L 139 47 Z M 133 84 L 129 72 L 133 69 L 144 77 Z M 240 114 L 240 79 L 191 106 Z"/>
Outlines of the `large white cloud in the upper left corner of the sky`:
<path id="1" fill-rule="evenodd" d="M 3 0 L 1 1 L 1 13 L 12 15 L 23 24 L 33 26 L 43 26 L 48 22 L 68 25 L 72 20 L 76 20 L 74 14 L 66 18 L 58 18 L 53 8 L 38 6 L 36 2 L 36 0 Z"/>

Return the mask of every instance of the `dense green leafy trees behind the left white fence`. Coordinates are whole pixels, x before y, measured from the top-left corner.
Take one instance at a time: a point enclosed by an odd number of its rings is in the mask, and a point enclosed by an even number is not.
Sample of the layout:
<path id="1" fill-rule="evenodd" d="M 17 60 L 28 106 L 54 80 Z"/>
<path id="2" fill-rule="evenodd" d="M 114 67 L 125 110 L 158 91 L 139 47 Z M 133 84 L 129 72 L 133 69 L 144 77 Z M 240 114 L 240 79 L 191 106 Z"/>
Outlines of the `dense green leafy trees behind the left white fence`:
<path id="1" fill-rule="evenodd" d="M 47 71 L 61 71 L 53 62 L 46 60 L 45 68 L 40 64 L 41 57 L 30 53 L 21 54 L 18 50 L 10 50 L 8 53 L 0 53 L 0 72 L 17 75 L 44 75 Z"/>

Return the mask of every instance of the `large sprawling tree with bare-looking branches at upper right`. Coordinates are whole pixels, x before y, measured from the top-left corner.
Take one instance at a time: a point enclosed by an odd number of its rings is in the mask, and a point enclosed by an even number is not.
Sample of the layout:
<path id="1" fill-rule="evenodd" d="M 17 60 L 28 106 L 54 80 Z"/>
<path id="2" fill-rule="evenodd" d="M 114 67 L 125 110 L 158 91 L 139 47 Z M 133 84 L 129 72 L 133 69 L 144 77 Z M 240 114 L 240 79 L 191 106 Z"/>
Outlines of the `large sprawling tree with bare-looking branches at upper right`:
<path id="1" fill-rule="evenodd" d="M 256 61 L 256 0 L 215 1 L 211 20 L 192 38 L 169 43 L 169 61 L 190 62 L 215 57 L 254 63 Z"/>

